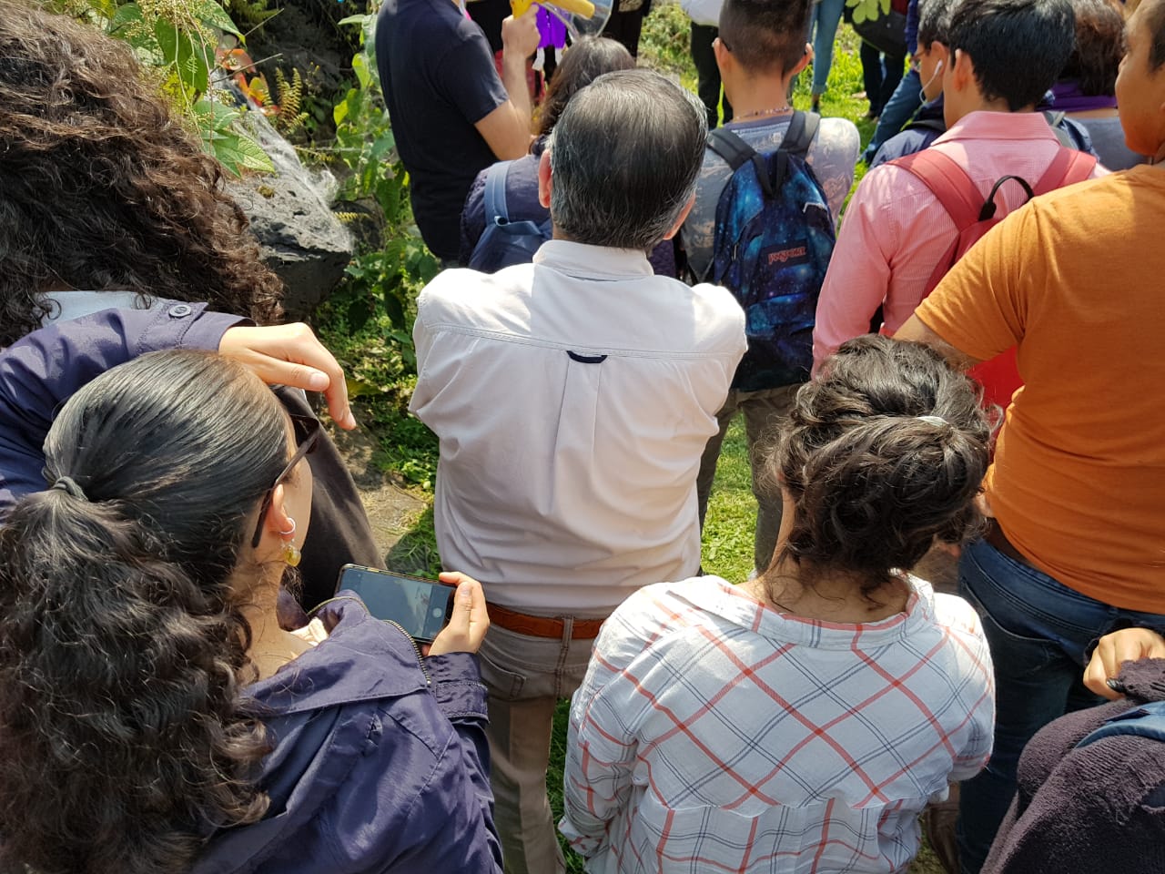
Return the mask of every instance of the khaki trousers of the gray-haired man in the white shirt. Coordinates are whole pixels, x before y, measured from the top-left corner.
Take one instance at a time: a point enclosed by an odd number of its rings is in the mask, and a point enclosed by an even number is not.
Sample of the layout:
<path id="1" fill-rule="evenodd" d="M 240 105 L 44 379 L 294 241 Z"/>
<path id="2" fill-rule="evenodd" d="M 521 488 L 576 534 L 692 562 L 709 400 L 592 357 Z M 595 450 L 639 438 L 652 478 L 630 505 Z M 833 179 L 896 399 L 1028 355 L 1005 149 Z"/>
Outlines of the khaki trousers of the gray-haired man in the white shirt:
<path id="1" fill-rule="evenodd" d="M 478 651 L 489 690 L 494 822 L 507 874 L 565 872 L 546 796 L 555 707 L 582 684 L 594 640 L 530 637 L 490 626 Z M 559 743 L 565 742 L 560 738 Z"/>

